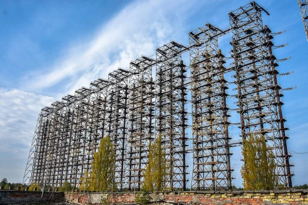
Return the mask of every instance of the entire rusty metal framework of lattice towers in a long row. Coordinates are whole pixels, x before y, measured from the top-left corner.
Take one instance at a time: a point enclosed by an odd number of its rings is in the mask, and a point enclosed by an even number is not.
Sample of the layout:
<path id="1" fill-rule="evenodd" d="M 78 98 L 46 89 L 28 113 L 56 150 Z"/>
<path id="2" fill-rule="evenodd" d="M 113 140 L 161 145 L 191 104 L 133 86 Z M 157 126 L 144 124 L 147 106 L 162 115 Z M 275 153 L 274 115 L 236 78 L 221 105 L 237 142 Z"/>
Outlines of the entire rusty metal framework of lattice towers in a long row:
<path id="1" fill-rule="evenodd" d="M 306 8 L 306 3 L 300 5 Z M 268 14 L 251 2 L 228 14 L 230 29 L 206 24 L 189 33 L 189 47 L 171 41 L 156 50 L 156 59 L 142 56 L 130 62 L 129 70 L 114 70 L 108 80 L 92 81 L 89 88 L 43 108 L 23 183 L 56 188 L 68 181 L 79 188 L 81 178 L 91 172 L 101 139 L 109 136 L 115 150 L 115 163 L 110 165 L 114 187 L 139 191 L 149 145 L 162 136 L 168 163 L 166 189 L 186 190 L 189 160 L 192 189 L 230 190 L 234 179 L 230 148 L 241 141 L 231 141 L 229 127 L 240 125 L 242 138 L 265 137 L 275 153 L 280 184 L 291 188 L 294 174 L 281 91 L 293 88 L 282 89 L 277 82 L 292 72 L 279 73 L 278 63 L 287 58 L 276 59 L 273 50 L 285 45 L 274 46 L 272 39 L 282 32 L 263 26 L 262 12 Z M 227 57 L 218 42 L 228 32 L 233 47 L 228 59 L 234 59 L 234 66 L 225 67 Z M 187 51 L 190 68 L 182 58 Z M 235 74 L 227 77 L 228 72 Z M 227 92 L 230 84 L 236 86 L 235 95 Z M 227 98 L 232 97 L 237 107 L 231 109 Z M 238 115 L 240 122 L 231 123 L 230 115 Z M 190 131 L 192 136 L 186 133 Z M 192 148 L 187 148 L 189 140 Z"/>

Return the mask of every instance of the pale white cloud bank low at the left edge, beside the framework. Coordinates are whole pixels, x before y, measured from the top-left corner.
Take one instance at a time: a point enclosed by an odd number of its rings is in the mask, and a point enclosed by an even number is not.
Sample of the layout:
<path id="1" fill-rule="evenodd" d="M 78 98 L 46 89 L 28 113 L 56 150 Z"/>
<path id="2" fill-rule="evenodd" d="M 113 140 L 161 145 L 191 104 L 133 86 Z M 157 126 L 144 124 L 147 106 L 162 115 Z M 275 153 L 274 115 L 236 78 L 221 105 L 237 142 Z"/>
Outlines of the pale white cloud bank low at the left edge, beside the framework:
<path id="1" fill-rule="evenodd" d="M 0 88 L 0 178 L 21 181 L 40 110 L 53 97 Z"/>

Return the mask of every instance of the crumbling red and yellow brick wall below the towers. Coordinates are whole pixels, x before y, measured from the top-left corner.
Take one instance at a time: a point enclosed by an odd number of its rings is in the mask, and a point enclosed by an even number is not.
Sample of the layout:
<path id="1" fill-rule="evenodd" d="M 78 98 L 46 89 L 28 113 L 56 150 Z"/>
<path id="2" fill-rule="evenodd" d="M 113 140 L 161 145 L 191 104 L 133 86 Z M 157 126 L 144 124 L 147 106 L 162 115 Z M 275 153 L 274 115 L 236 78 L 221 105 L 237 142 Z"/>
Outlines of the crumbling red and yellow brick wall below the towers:
<path id="1" fill-rule="evenodd" d="M 308 204 L 308 190 L 277 191 L 207 191 L 207 192 L 158 192 L 150 193 L 149 202 L 176 204 Z M 140 193 L 65 193 L 66 201 L 95 204 L 108 201 L 114 204 L 136 203 Z"/>

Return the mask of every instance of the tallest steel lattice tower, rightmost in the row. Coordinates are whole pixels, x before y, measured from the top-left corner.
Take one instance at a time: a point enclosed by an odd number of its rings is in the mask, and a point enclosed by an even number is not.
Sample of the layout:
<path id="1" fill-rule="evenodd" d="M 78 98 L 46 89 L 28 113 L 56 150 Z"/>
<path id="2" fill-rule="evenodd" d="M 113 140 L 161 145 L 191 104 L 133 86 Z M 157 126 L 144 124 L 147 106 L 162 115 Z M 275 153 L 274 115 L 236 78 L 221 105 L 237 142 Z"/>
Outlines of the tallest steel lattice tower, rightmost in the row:
<path id="1" fill-rule="evenodd" d="M 283 125 L 286 120 L 281 112 L 281 87 L 276 77 L 278 64 L 272 53 L 271 31 L 263 27 L 262 11 L 267 13 L 252 2 L 229 13 L 240 129 L 243 138 L 249 134 L 265 137 L 275 153 L 279 182 L 292 187 Z"/>

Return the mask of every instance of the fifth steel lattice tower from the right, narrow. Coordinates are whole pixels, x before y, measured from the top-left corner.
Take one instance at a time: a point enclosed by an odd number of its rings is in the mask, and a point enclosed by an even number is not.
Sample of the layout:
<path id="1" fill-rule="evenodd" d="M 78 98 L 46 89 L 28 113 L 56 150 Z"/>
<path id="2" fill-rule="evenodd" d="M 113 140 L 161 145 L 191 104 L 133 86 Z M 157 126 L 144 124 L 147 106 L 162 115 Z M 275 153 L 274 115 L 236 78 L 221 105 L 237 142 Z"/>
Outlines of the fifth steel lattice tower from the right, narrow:
<path id="1" fill-rule="evenodd" d="M 119 68 L 108 74 L 107 135 L 115 149 L 114 183 L 121 190 L 125 169 L 125 139 L 127 134 L 127 99 L 129 71 Z"/>

